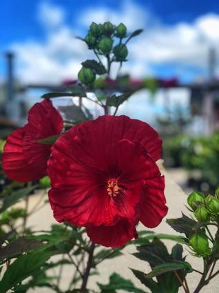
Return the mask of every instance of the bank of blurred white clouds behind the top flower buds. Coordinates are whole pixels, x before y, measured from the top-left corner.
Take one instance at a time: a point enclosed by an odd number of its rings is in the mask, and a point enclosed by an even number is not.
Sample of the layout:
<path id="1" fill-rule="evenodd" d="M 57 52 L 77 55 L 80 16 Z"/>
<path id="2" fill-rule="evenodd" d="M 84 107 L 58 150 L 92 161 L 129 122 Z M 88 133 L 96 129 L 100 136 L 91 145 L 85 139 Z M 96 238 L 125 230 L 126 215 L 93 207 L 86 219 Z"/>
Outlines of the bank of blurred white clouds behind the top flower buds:
<path id="1" fill-rule="evenodd" d="M 75 79 L 81 62 L 94 58 L 85 43 L 74 39 L 76 31 L 65 22 L 65 10 L 49 2 L 41 2 L 40 17 L 46 38 L 12 44 L 17 52 L 17 74 L 25 83 L 61 83 Z M 206 14 L 194 23 L 176 23 L 166 26 L 136 2 L 124 0 L 120 10 L 89 8 L 78 14 L 78 27 L 87 27 L 92 21 L 123 22 L 129 30 L 145 28 L 145 32 L 129 43 L 129 56 L 123 72 L 133 77 L 153 75 L 153 65 L 176 63 L 179 68 L 194 65 L 207 69 L 208 50 L 217 48 L 219 54 L 219 15 Z M 183 70 L 178 70 L 178 72 Z"/>

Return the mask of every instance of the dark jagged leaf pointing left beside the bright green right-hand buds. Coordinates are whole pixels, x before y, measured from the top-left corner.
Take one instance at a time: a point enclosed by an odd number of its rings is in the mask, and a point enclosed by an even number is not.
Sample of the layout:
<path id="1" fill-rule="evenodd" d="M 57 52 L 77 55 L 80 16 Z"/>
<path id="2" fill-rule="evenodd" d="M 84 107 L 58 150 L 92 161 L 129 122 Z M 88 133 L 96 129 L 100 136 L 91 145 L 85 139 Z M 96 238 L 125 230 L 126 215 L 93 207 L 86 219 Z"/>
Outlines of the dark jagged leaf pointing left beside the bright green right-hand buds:
<path id="1" fill-rule="evenodd" d="M 167 219 L 167 224 L 169 224 L 171 228 L 176 230 L 176 232 L 184 233 L 187 238 L 190 238 L 194 234 L 194 226 L 196 223 L 196 221 L 185 216 L 185 214 L 178 219 Z"/>

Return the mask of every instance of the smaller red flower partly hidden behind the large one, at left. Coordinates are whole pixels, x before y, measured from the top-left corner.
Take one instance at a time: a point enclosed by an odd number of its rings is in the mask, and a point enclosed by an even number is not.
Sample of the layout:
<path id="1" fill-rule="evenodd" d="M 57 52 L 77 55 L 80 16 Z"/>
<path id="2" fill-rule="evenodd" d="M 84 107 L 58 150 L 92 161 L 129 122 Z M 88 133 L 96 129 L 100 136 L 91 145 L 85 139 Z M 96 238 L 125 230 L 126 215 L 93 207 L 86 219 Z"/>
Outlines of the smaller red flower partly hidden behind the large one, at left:
<path id="1" fill-rule="evenodd" d="M 36 103 L 28 113 L 28 123 L 8 137 L 2 154 L 3 170 L 12 180 L 27 182 L 47 174 L 51 144 L 37 140 L 60 134 L 63 119 L 52 102 Z"/>

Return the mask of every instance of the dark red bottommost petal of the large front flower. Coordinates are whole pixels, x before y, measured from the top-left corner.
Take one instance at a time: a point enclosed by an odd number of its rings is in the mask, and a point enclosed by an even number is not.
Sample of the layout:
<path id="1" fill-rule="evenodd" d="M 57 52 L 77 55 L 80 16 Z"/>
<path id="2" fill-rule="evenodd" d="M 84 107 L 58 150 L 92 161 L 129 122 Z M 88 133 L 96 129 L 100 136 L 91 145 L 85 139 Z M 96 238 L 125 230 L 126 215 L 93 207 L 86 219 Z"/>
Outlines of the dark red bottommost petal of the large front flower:
<path id="1" fill-rule="evenodd" d="M 121 219 L 112 226 L 88 227 L 87 235 L 92 242 L 106 247 L 121 247 L 138 236 L 136 228 L 127 219 Z"/>

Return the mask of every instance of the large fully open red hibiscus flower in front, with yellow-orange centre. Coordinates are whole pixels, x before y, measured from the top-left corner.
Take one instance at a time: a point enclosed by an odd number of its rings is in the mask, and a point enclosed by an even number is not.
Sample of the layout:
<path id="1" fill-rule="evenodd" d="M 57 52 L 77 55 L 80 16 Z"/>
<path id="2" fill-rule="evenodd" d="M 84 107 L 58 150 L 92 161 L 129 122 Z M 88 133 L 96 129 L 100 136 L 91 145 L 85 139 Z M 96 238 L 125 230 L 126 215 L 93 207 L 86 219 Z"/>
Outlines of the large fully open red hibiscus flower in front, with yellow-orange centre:
<path id="1" fill-rule="evenodd" d="M 85 226 L 94 243 L 119 247 L 167 214 L 155 163 L 162 141 L 147 123 L 102 116 L 65 132 L 52 147 L 49 199 L 57 221 Z"/>

